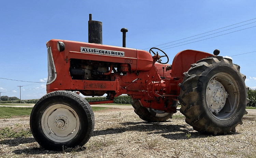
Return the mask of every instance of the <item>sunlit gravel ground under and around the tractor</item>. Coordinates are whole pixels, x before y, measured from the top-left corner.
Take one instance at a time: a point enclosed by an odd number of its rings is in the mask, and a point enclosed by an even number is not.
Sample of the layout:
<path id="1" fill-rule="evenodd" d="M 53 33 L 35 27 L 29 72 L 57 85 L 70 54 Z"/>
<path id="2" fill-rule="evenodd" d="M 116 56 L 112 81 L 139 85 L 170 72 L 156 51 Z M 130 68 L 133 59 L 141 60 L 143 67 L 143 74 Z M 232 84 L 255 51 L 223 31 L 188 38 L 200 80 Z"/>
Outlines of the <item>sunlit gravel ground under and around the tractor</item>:
<path id="1" fill-rule="evenodd" d="M 1 158 L 256 158 L 256 115 L 245 115 L 237 132 L 205 135 L 185 123 L 179 112 L 165 123 L 147 123 L 133 109 L 95 112 L 95 131 L 83 146 L 48 151 L 34 138 L 0 139 Z M 30 130 L 29 116 L 0 119 L 0 129 Z"/>

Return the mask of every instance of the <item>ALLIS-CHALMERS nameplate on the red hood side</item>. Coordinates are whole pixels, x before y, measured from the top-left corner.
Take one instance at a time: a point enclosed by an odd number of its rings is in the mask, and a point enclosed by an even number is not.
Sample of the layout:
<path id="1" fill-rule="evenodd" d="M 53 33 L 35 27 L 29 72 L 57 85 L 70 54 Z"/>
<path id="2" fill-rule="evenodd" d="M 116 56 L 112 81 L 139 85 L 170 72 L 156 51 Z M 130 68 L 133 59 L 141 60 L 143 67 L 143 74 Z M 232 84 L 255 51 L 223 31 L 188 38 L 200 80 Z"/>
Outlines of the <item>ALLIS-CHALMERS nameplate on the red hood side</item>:
<path id="1" fill-rule="evenodd" d="M 125 56 L 125 52 L 110 51 L 105 49 L 80 47 L 80 51 L 85 53 L 96 53 L 96 54 L 115 55 L 115 56 L 123 56 L 123 57 Z"/>

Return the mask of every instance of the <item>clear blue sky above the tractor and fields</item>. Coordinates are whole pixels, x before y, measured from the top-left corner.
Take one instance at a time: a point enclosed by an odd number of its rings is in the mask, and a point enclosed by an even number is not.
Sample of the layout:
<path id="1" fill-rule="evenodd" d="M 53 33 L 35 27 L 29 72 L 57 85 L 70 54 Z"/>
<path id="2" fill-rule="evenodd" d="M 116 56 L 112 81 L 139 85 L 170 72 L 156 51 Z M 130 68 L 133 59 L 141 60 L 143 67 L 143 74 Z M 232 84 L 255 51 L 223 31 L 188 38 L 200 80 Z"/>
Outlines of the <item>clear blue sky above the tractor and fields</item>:
<path id="1" fill-rule="evenodd" d="M 1 96 L 39 99 L 46 94 L 51 39 L 88 42 L 88 20 L 102 22 L 103 44 L 158 47 L 169 56 L 185 49 L 230 57 L 256 88 L 255 0 L 44 0 L 0 5 Z M 18 80 L 18 81 L 15 81 Z M 26 82 L 22 82 L 26 81 Z M 34 83 L 37 82 L 37 83 Z M 18 87 L 23 86 L 23 87 Z"/>

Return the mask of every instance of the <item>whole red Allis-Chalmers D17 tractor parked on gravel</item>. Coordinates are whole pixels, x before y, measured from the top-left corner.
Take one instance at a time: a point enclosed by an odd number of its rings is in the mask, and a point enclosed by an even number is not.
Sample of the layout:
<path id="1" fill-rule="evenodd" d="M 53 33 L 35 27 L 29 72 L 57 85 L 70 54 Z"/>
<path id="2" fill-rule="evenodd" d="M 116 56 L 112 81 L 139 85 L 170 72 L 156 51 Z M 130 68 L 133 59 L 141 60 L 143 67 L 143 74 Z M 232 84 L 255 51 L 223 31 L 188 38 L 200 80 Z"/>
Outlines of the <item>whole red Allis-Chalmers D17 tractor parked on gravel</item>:
<path id="1" fill-rule="evenodd" d="M 89 15 L 89 42 L 50 40 L 47 94 L 35 105 L 30 128 L 44 148 L 83 146 L 94 131 L 90 104 L 113 103 L 122 94 L 132 98 L 134 112 L 144 121 L 161 122 L 172 118 L 177 106 L 186 123 L 198 132 L 235 132 L 247 114 L 248 87 L 245 75 L 231 59 L 194 50 L 181 51 L 169 58 L 158 48 L 149 52 L 102 44 L 102 23 Z M 152 54 L 152 55 L 151 55 Z M 163 61 L 165 60 L 165 61 Z M 91 102 L 84 96 L 103 96 Z"/>

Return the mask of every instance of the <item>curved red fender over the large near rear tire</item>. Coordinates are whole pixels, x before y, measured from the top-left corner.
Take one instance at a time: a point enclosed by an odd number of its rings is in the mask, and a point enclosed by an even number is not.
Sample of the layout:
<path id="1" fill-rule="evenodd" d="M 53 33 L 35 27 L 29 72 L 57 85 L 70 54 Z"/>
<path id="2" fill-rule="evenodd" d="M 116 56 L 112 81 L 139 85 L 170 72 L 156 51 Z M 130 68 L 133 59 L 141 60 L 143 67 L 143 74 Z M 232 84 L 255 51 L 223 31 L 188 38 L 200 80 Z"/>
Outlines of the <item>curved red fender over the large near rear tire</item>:
<path id="1" fill-rule="evenodd" d="M 174 57 L 172 61 L 172 77 L 184 78 L 184 72 L 187 72 L 191 67 L 190 65 L 196 63 L 198 60 L 203 58 L 213 56 L 213 54 L 194 51 L 194 50 L 185 50 L 181 51 Z"/>

